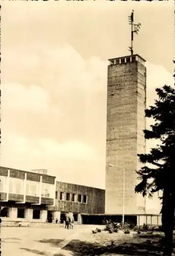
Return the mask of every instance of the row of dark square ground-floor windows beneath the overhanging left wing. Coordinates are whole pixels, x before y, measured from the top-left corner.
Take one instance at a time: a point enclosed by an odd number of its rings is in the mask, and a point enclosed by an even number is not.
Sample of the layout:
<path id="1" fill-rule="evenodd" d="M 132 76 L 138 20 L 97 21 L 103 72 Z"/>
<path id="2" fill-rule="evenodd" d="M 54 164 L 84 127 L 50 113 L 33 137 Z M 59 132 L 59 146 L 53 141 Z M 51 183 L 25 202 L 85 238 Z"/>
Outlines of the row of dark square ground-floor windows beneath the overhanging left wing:
<path id="1" fill-rule="evenodd" d="M 25 219 L 26 218 L 26 209 L 24 208 L 17 208 L 17 218 Z M 10 217 L 10 208 L 4 207 L 1 210 L 1 217 L 9 218 Z M 41 218 L 41 210 L 33 209 L 33 219 L 40 219 Z"/>

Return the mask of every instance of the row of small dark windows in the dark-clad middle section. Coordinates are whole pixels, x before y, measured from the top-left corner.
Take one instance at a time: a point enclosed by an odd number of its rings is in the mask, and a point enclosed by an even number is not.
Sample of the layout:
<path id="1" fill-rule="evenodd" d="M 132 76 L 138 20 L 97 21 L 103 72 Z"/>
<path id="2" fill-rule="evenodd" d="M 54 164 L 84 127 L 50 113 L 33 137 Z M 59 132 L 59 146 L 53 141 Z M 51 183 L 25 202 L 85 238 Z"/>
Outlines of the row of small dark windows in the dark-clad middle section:
<path id="1" fill-rule="evenodd" d="M 71 202 L 78 202 L 78 203 L 87 203 L 87 195 L 81 195 L 81 194 L 74 194 L 74 193 L 68 193 L 63 191 L 56 191 L 55 198 L 61 201 L 71 201 Z"/>

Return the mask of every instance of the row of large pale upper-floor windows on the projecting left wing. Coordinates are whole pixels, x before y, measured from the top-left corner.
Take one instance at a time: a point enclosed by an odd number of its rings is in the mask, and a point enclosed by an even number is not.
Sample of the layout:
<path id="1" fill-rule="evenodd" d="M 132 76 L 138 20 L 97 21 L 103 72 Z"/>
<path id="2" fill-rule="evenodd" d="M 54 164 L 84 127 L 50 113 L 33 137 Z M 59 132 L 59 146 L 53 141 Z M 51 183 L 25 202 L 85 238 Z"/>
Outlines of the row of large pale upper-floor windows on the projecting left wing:
<path id="1" fill-rule="evenodd" d="M 0 192 L 7 192 L 7 177 L 1 176 Z M 54 198 L 54 185 L 42 183 L 41 196 Z M 9 178 L 9 193 L 23 195 L 24 181 L 17 178 Z M 39 182 L 26 181 L 26 195 L 39 197 Z"/>

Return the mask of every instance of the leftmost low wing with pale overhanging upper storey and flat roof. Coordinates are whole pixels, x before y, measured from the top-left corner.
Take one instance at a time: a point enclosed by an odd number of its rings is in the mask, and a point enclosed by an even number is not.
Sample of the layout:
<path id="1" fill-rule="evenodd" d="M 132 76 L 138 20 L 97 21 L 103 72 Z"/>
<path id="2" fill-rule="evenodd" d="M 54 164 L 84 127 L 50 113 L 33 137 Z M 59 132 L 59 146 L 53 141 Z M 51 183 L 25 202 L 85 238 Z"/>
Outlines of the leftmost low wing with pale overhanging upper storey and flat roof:
<path id="1" fill-rule="evenodd" d="M 7 221 L 47 221 L 55 204 L 55 177 L 0 167 L 1 217 Z"/>

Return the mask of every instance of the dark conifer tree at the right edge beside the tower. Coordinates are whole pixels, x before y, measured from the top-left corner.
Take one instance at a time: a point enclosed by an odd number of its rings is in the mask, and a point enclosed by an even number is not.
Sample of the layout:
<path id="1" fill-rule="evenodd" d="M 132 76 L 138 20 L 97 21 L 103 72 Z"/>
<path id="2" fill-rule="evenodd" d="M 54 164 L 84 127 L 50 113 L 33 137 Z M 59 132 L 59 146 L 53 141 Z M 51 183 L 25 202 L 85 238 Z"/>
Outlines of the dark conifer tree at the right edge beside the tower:
<path id="1" fill-rule="evenodd" d="M 145 139 L 159 139 L 149 154 L 139 154 L 145 164 L 138 172 L 140 183 L 136 193 L 153 196 L 161 190 L 162 228 L 165 234 L 164 255 L 172 251 L 175 209 L 175 90 L 170 86 L 156 89 L 158 99 L 145 110 L 147 118 L 153 118 L 150 130 L 144 130 Z"/>

